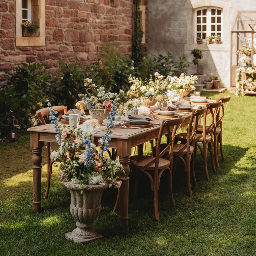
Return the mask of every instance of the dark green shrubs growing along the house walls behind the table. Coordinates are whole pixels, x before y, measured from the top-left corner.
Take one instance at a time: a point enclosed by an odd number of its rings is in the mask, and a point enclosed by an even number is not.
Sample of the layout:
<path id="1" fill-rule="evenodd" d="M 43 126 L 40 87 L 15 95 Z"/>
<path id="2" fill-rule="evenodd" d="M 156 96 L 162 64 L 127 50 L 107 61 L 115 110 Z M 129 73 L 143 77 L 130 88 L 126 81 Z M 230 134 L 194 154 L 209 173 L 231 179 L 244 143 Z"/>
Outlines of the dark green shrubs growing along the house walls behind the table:
<path id="1" fill-rule="evenodd" d="M 68 109 L 75 108 L 79 93 L 86 93 L 84 79 L 99 77 L 106 92 L 125 92 L 130 88 L 129 76 L 149 79 L 156 71 L 163 74 L 179 76 L 186 73 L 189 62 L 181 55 L 177 62 L 173 54 L 153 56 L 148 54 L 143 58 L 140 68 L 136 67 L 132 56 L 123 56 L 116 45 L 106 43 L 99 50 L 99 57 L 89 65 L 78 61 L 66 63 L 60 61 L 56 74 L 45 69 L 44 64 L 23 63 L 16 67 L 15 72 L 6 72 L 6 83 L 0 85 L 0 137 L 9 132 L 5 129 L 10 116 L 14 115 L 21 132 L 36 122 L 36 110 L 45 107 L 43 102 L 49 99 L 52 105 L 66 105 Z"/>

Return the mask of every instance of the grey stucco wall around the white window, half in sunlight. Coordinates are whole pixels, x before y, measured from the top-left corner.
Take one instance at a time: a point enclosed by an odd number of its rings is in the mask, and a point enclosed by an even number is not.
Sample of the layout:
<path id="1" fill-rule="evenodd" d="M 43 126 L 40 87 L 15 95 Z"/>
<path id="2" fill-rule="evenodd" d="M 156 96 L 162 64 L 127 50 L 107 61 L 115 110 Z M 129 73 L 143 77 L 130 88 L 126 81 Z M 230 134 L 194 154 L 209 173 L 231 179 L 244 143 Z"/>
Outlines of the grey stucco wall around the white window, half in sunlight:
<path id="1" fill-rule="evenodd" d="M 193 8 L 217 6 L 223 9 L 222 44 L 194 43 Z M 256 10 L 253 0 L 148 0 L 148 50 L 154 54 L 170 51 L 175 59 L 183 52 L 192 61 L 191 50 L 202 49 L 203 58 L 199 62 L 199 73 L 219 76 L 223 86 L 230 87 L 230 35 L 238 10 Z M 248 27 L 249 29 L 249 27 Z M 188 73 L 195 73 L 191 64 Z"/>

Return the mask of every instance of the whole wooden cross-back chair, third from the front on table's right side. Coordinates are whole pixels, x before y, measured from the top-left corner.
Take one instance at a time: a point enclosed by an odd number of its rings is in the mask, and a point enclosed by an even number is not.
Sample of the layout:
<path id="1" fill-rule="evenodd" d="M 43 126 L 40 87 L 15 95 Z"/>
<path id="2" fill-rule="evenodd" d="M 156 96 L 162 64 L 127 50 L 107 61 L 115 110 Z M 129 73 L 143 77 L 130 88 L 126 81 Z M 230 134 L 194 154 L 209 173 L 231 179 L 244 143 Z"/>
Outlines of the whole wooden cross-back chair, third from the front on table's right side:
<path id="1" fill-rule="evenodd" d="M 204 169 L 205 169 L 205 175 L 207 180 L 209 180 L 209 174 L 207 169 L 207 147 L 210 152 L 212 170 L 213 172 L 216 172 L 214 159 L 213 159 L 213 134 L 212 133 L 214 129 L 213 127 L 215 125 L 214 120 L 218 115 L 221 104 L 222 102 L 217 100 L 217 102 L 209 103 L 207 105 L 207 111 L 204 113 L 204 116 L 203 116 L 203 124 L 198 125 L 197 133 L 195 136 L 195 146 L 197 146 L 200 149 L 201 156 L 204 158 Z M 209 114 L 208 114 L 208 111 L 210 112 Z M 209 120 L 210 122 L 208 123 Z M 196 153 L 196 147 L 195 147 L 194 153 Z"/>

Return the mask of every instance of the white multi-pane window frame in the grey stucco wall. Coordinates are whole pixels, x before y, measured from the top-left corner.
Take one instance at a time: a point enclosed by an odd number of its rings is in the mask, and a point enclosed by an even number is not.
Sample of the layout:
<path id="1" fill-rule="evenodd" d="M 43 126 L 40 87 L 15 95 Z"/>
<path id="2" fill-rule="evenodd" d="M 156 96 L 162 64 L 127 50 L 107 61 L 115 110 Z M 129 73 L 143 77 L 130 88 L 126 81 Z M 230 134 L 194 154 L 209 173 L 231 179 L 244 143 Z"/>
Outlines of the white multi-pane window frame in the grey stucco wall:
<path id="1" fill-rule="evenodd" d="M 212 36 L 212 35 L 215 35 L 216 34 L 216 30 L 215 31 L 212 31 L 211 29 L 211 26 L 212 24 L 219 24 L 221 26 L 221 30 L 220 31 L 217 31 L 217 34 L 219 34 L 220 36 L 223 34 L 223 10 L 222 8 L 218 8 L 218 7 L 214 7 L 214 6 L 204 6 L 204 7 L 200 7 L 200 8 L 197 8 L 194 10 L 194 43 L 196 43 L 196 36 L 198 34 L 198 31 L 197 31 L 197 12 L 198 10 L 204 10 L 206 9 L 206 30 L 202 30 L 200 31 L 200 33 L 206 33 L 206 36 Z M 216 10 L 216 14 L 215 14 L 215 17 L 217 18 L 217 10 L 220 10 L 221 11 L 221 15 L 220 15 L 220 18 L 221 18 L 221 22 L 220 23 L 217 23 L 217 20 L 215 19 L 215 23 L 212 23 L 212 15 L 211 15 L 211 10 L 212 9 L 215 9 Z M 202 24 L 202 23 L 200 23 Z M 203 23 L 205 24 L 205 23 Z M 203 41 L 205 41 L 205 38 L 203 38 Z"/>

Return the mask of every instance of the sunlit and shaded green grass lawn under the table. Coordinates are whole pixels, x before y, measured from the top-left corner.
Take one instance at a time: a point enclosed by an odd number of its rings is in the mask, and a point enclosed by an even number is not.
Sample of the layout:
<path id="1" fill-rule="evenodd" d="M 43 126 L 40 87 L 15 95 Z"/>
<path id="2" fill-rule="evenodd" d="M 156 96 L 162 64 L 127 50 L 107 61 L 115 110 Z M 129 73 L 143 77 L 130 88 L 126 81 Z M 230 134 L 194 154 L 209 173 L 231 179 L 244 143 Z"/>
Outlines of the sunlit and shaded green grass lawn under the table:
<path id="1" fill-rule="evenodd" d="M 205 93 L 213 99 L 229 93 Z M 64 238 L 76 228 L 69 212 L 70 193 L 52 174 L 43 211 L 33 210 L 33 175 L 29 135 L 0 145 L 0 255 L 255 255 L 256 252 L 256 97 L 231 95 L 223 120 L 226 161 L 212 173 L 210 159 L 205 178 L 203 161 L 195 159 L 198 187 L 188 197 L 186 174 L 173 177 L 176 209 L 168 198 L 166 179 L 159 191 L 160 221 L 154 216 L 153 195 L 147 178 L 141 179 L 133 201 L 130 178 L 129 226 L 121 229 L 112 209 L 116 189 L 103 192 L 102 212 L 94 228 L 104 238 L 76 244 Z M 43 149 L 42 194 L 46 187 L 46 151 Z M 209 158 L 209 157 L 208 157 Z M 144 177 L 144 176 L 143 176 Z"/>

